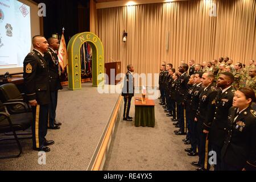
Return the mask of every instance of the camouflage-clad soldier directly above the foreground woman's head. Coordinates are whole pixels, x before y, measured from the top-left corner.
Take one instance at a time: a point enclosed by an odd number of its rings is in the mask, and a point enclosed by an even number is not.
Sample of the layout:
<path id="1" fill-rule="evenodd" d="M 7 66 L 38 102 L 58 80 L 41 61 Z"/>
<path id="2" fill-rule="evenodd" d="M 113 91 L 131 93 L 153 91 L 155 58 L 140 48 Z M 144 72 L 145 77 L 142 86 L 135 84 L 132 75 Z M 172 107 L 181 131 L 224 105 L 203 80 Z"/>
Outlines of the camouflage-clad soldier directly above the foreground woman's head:
<path id="1" fill-rule="evenodd" d="M 236 72 L 234 73 L 234 83 L 233 86 L 237 90 L 241 86 L 245 86 L 245 73 L 242 71 L 242 64 L 237 63 L 235 65 Z"/>

